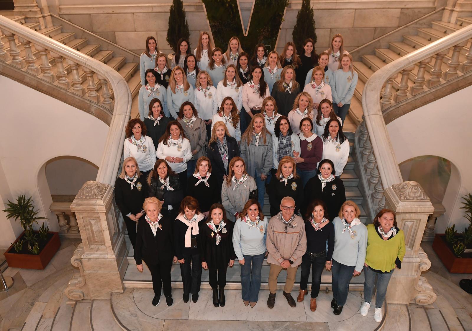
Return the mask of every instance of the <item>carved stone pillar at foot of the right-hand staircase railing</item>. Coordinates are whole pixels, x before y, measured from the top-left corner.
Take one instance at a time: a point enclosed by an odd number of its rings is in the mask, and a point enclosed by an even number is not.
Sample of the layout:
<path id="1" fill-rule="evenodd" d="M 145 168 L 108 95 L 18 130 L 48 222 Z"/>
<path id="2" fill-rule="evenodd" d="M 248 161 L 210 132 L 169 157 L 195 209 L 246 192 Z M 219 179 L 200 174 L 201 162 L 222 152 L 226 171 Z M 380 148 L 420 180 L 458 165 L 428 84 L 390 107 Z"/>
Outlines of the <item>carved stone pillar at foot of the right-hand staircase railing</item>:
<path id="1" fill-rule="evenodd" d="M 428 281 L 421 276 L 431 263 L 420 244 L 426 221 L 434 207 L 423 188 L 414 181 L 392 185 L 385 190 L 385 208 L 396 212 L 398 228 L 405 233 L 406 253 L 402 268 L 396 269 L 387 289 L 389 304 L 428 305 L 436 295 L 428 287 Z"/>

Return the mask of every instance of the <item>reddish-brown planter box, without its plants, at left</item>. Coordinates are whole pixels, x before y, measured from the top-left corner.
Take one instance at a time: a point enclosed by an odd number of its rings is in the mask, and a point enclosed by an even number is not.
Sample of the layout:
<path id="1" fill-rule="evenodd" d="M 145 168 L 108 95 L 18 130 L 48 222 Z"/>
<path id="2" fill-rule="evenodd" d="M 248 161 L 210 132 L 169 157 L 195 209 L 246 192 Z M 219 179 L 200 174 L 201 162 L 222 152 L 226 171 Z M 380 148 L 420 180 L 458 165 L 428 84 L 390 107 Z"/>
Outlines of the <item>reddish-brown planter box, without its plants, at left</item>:
<path id="1" fill-rule="evenodd" d="M 25 231 L 23 231 L 23 233 L 17 238 L 17 240 L 15 240 L 15 242 L 23 237 L 24 233 Z M 4 253 L 8 266 L 22 269 L 44 270 L 60 246 L 59 232 L 49 233 L 52 233 L 52 238 L 48 241 L 46 246 L 44 246 L 38 255 L 10 253 L 10 251 L 14 251 L 13 246 L 10 246 Z"/>

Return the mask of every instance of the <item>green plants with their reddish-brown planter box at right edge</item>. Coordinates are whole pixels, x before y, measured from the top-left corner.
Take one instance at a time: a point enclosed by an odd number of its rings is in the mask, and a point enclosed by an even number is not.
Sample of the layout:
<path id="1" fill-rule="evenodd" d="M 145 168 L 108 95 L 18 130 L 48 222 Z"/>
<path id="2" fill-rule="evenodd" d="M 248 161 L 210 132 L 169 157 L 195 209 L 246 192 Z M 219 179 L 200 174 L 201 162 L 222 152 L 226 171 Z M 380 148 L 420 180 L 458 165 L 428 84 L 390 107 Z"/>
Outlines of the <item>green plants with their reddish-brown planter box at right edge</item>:
<path id="1" fill-rule="evenodd" d="M 434 237 L 433 249 L 451 273 L 472 273 L 472 195 L 463 196 L 464 217 L 470 225 L 457 233 L 455 225 Z"/>

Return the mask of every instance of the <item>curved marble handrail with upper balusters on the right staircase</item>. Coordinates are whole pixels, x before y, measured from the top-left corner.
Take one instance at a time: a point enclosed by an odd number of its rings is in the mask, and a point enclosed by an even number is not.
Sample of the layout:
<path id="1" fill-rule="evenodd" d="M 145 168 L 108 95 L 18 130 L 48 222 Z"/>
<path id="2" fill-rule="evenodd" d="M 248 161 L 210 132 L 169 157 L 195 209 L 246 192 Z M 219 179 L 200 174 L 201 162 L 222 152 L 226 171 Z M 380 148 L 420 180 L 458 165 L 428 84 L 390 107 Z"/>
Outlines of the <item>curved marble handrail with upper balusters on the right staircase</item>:
<path id="1" fill-rule="evenodd" d="M 430 63 L 433 56 L 439 59 L 444 57 L 444 52 L 454 47 L 451 59 L 448 61 L 448 69 L 443 73 L 442 79 L 447 81 L 458 75 L 460 51 L 466 46 L 469 38 L 472 37 L 472 25 L 468 25 L 452 34 L 447 35 L 429 45 L 424 46 L 417 51 L 413 51 L 395 61 L 388 63 L 372 74 L 364 86 L 362 92 L 362 110 L 365 118 L 365 126 L 368 131 L 368 139 L 375 155 L 376 166 L 381 178 L 381 187 L 388 188 L 394 184 L 403 181 L 396 156 L 388 136 L 387 127 L 383 118 L 382 110 L 386 109 L 391 103 L 391 84 L 398 73 L 402 75 L 402 80 L 394 96 L 394 101 L 399 102 L 408 98 L 408 77 L 411 71 L 418 64 L 418 73 L 414 79 L 414 85 L 410 88 L 410 95 L 422 93 L 425 85 L 424 71 L 425 66 Z M 467 60 L 464 62 L 461 70 L 469 71 L 472 64 L 471 50 L 465 55 Z M 439 65 L 441 63 L 439 62 Z M 431 70 L 431 78 L 437 78 L 437 68 Z M 436 71 L 434 71 L 436 69 Z M 464 71 L 465 70 L 465 71 Z M 433 81 L 435 81 L 433 79 Z M 428 84 L 426 84 L 428 86 Z M 384 93 L 382 88 L 385 86 Z M 385 100 L 384 100 L 385 99 Z"/>

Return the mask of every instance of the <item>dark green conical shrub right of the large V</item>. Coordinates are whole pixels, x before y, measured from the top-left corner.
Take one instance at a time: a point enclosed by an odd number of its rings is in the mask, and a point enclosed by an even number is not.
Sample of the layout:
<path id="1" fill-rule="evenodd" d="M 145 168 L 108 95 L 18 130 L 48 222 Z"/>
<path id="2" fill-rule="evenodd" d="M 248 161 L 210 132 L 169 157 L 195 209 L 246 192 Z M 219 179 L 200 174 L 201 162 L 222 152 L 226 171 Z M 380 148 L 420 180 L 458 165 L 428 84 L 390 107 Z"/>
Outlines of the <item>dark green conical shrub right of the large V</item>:
<path id="1" fill-rule="evenodd" d="M 307 38 L 312 38 L 316 44 L 316 33 L 315 33 L 315 19 L 313 18 L 313 8 L 311 8 L 310 0 L 303 0 L 302 8 L 296 15 L 296 23 L 292 32 L 292 40 L 295 42 L 295 46 L 298 54 L 303 54 L 303 42 Z M 314 47 L 315 45 L 313 45 Z"/>

